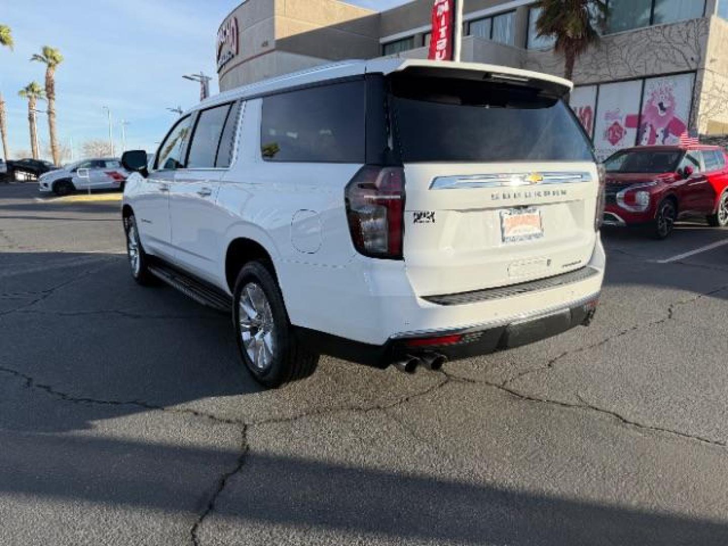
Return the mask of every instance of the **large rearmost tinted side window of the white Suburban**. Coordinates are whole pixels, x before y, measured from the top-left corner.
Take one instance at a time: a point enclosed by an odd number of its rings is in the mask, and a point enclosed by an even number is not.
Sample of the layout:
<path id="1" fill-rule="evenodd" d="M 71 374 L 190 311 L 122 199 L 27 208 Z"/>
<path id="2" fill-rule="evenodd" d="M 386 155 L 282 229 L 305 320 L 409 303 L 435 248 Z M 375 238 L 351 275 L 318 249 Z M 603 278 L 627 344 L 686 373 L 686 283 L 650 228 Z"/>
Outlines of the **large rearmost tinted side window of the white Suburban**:
<path id="1" fill-rule="evenodd" d="M 261 154 L 266 161 L 363 163 L 364 80 L 263 99 Z"/>

